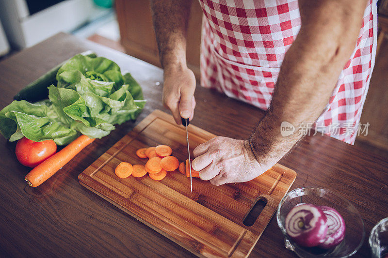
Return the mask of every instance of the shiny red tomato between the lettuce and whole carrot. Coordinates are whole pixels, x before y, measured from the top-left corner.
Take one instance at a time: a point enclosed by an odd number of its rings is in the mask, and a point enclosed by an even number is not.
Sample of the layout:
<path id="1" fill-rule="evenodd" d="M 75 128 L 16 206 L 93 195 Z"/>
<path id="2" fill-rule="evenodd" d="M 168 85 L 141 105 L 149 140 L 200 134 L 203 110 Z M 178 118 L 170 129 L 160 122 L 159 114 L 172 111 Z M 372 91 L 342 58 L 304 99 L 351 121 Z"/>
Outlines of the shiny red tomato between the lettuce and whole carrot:
<path id="1" fill-rule="evenodd" d="M 24 166 L 36 167 L 57 151 L 53 140 L 36 142 L 26 137 L 16 143 L 16 158 Z"/>

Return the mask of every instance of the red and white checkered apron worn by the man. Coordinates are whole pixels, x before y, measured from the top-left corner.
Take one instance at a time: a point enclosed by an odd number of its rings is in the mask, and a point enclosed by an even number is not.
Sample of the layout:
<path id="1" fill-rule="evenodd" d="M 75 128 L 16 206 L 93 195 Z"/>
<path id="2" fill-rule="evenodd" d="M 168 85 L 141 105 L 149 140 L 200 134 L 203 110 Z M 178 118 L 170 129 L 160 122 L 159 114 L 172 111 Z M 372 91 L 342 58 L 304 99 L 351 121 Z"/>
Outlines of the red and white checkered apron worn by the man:
<path id="1" fill-rule="evenodd" d="M 204 11 L 201 85 L 267 109 L 283 58 L 301 26 L 298 1 L 199 2 Z M 376 0 L 370 0 L 353 54 L 314 125 L 317 131 L 354 144 L 374 66 L 376 38 Z"/>

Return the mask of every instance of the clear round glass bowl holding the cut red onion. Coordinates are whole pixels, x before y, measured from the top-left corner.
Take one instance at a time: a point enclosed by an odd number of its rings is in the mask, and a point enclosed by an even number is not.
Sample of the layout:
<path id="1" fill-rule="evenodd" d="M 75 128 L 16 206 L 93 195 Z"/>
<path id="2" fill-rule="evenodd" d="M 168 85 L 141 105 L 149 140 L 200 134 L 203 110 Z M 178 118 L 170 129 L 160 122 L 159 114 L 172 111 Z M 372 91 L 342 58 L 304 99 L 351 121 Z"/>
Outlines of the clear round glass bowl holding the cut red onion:
<path id="1" fill-rule="evenodd" d="M 331 249 L 301 247 L 287 235 L 285 219 L 290 210 L 298 203 L 311 203 L 336 209 L 345 221 L 345 237 L 339 245 Z M 299 257 L 335 257 L 344 258 L 354 255 L 364 242 L 364 223 L 356 208 L 345 198 L 329 189 L 319 187 L 297 188 L 289 192 L 280 201 L 276 212 L 277 224 L 284 235 L 287 249 Z"/>

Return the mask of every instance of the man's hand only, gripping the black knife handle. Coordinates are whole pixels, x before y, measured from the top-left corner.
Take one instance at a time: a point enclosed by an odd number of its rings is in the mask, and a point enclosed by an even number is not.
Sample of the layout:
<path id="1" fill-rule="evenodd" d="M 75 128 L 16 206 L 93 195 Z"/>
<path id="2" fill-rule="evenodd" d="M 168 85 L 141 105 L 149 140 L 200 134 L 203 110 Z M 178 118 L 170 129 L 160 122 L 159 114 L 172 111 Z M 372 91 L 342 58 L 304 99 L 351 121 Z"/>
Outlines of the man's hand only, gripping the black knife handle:
<path id="1" fill-rule="evenodd" d="M 195 108 L 195 76 L 186 66 L 164 68 L 163 105 L 171 110 L 177 122 L 182 118 L 193 119 Z"/>

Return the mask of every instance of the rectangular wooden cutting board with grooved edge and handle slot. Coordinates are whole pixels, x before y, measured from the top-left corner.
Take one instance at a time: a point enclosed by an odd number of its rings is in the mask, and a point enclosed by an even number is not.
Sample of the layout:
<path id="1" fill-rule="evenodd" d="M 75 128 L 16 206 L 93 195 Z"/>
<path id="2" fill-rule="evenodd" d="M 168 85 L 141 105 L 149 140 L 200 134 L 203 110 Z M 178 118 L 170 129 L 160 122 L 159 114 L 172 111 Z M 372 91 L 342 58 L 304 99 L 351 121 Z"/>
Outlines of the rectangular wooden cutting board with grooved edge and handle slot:
<path id="1" fill-rule="evenodd" d="M 189 125 L 188 131 L 191 152 L 215 137 L 194 125 Z M 147 159 L 136 156 L 137 149 L 159 144 L 171 146 L 179 161 L 187 159 L 185 128 L 178 126 L 172 116 L 155 110 L 78 179 L 86 188 L 199 257 L 247 257 L 294 182 L 295 171 L 276 164 L 250 182 L 222 186 L 194 178 L 193 193 L 190 179 L 177 171 L 167 172 L 162 181 L 148 175 L 125 179 L 115 176 L 114 168 L 121 161 L 146 163 Z M 245 226 L 243 221 L 253 225 Z"/>

